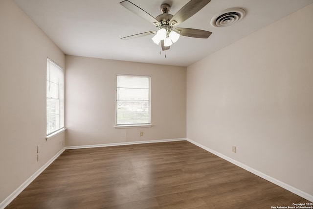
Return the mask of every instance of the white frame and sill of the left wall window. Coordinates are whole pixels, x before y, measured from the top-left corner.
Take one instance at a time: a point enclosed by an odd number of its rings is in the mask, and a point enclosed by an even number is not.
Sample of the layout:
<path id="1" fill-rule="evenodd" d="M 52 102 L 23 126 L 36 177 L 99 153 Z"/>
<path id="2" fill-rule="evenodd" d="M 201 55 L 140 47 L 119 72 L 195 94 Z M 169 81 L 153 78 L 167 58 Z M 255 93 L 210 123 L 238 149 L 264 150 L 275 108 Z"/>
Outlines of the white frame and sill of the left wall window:
<path id="1" fill-rule="evenodd" d="M 48 102 L 48 99 L 51 99 L 52 97 L 48 97 L 47 95 L 47 89 L 46 89 L 46 127 L 45 127 L 45 130 L 46 130 L 46 140 L 64 132 L 66 130 L 65 128 L 65 75 L 64 75 L 64 69 L 58 65 L 56 62 L 54 62 L 53 60 L 51 60 L 50 58 L 47 57 L 47 64 L 49 65 L 55 65 L 58 69 L 62 70 L 62 78 L 63 78 L 63 93 L 62 93 L 62 97 L 60 97 L 60 95 L 58 94 L 58 98 L 53 98 L 55 100 L 58 100 L 58 102 L 62 102 L 63 103 L 63 108 L 62 110 L 60 110 L 60 105 L 59 105 L 59 110 L 58 110 L 58 113 L 56 115 L 59 115 L 59 120 L 63 120 L 62 123 L 63 123 L 63 126 L 62 127 L 58 127 L 56 130 L 53 130 L 52 132 L 47 132 L 47 122 L 48 122 L 48 117 L 47 117 L 47 102 Z M 47 66 L 48 68 L 48 66 Z M 48 73 L 49 69 L 46 69 L 46 73 Z M 48 75 L 46 74 L 46 82 L 48 81 Z M 47 85 L 46 85 L 46 88 L 47 88 Z M 59 92 L 59 86 L 58 86 L 58 92 Z M 62 113 L 63 112 L 63 113 Z M 63 115 L 62 118 L 60 118 L 60 116 Z"/>

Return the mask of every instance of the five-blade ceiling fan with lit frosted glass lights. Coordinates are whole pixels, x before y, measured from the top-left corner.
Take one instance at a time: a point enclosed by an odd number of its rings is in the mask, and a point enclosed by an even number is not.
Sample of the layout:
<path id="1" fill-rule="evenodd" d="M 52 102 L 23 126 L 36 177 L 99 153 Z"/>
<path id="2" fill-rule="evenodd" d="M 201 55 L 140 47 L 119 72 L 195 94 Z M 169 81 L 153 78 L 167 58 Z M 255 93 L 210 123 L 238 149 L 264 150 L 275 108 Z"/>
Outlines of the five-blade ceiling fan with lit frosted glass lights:
<path id="1" fill-rule="evenodd" d="M 163 3 L 160 7 L 162 14 L 154 18 L 149 13 L 147 13 L 134 3 L 130 2 L 129 0 L 124 0 L 120 2 L 122 6 L 124 6 L 126 9 L 130 10 L 134 14 L 138 15 L 139 17 L 149 21 L 150 23 L 153 23 L 158 28 L 158 30 L 126 36 L 121 39 L 128 40 L 155 34 L 152 40 L 157 45 L 159 45 L 159 43 L 161 42 L 161 47 L 163 51 L 168 50 L 173 43 L 177 42 L 180 35 L 206 39 L 212 34 L 212 32 L 176 26 L 196 14 L 210 1 L 211 0 L 190 0 L 174 16 L 168 13 L 171 9 L 171 6 L 167 3 Z"/>

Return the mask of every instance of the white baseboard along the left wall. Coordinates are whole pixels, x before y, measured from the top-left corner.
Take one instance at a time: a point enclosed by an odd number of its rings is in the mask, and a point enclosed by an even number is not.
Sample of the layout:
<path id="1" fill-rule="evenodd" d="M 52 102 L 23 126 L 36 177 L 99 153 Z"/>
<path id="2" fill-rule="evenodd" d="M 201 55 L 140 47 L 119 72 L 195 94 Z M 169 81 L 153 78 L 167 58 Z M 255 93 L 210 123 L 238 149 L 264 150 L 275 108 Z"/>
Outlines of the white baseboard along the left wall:
<path id="1" fill-rule="evenodd" d="M 33 175 L 31 175 L 21 186 L 19 186 L 12 194 L 5 198 L 0 203 L 0 209 L 4 209 L 9 205 L 30 183 L 32 183 L 55 159 L 57 159 L 63 152 L 65 148 L 61 149 L 55 156 L 53 156 L 47 163 L 45 163 L 41 168 L 39 168 Z"/>

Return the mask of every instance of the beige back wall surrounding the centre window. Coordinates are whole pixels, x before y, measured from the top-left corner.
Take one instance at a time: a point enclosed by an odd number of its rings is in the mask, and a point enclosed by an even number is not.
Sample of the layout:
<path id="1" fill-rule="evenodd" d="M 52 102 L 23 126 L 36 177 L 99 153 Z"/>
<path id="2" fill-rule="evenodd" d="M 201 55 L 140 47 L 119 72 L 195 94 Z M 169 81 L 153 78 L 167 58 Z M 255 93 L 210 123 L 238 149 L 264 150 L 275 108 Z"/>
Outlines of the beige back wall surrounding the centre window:
<path id="1" fill-rule="evenodd" d="M 67 146 L 186 138 L 185 67 L 66 56 L 66 69 Z M 153 127 L 114 129 L 117 73 L 151 76 Z"/>

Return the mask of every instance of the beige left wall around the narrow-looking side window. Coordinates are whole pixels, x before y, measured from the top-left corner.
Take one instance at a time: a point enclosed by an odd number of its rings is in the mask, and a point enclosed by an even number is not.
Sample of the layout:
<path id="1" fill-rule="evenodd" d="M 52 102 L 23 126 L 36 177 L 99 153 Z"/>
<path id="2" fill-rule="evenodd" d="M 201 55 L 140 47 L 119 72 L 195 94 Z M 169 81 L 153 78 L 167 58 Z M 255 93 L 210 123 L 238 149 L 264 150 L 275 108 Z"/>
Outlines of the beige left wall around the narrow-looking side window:
<path id="1" fill-rule="evenodd" d="M 45 140 L 47 56 L 65 66 L 61 50 L 13 0 L 0 0 L 0 203 L 62 149 L 64 134 Z"/>

